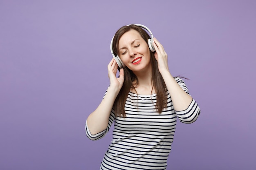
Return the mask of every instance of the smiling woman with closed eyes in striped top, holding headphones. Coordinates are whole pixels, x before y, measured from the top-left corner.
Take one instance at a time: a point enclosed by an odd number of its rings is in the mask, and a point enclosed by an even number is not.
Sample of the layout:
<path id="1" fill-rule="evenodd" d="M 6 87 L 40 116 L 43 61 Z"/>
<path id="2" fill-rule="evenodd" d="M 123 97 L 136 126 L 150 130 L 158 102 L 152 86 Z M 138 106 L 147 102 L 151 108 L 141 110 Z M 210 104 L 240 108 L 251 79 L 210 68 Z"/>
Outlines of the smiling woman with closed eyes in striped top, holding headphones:
<path id="1" fill-rule="evenodd" d="M 163 46 L 153 38 L 152 52 L 142 28 L 132 24 L 115 34 L 111 48 L 124 66 L 117 77 L 117 62 L 110 61 L 110 86 L 86 120 L 91 140 L 104 137 L 115 122 L 101 170 L 166 170 L 177 118 L 190 124 L 200 114 L 184 81 L 171 75 Z"/>

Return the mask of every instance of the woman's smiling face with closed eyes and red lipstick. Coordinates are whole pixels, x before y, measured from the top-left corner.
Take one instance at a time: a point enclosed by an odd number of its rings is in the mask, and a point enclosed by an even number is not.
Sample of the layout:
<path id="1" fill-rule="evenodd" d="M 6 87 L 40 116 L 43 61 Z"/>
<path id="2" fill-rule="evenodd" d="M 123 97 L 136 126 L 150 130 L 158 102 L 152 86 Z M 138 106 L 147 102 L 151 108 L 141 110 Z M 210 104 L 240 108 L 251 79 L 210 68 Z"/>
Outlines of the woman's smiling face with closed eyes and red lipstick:
<path id="1" fill-rule="evenodd" d="M 119 57 L 133 72 L 146 71 L 150 68 L 148 44 L 136 30 L 124 33 L 119 40 Z"/>

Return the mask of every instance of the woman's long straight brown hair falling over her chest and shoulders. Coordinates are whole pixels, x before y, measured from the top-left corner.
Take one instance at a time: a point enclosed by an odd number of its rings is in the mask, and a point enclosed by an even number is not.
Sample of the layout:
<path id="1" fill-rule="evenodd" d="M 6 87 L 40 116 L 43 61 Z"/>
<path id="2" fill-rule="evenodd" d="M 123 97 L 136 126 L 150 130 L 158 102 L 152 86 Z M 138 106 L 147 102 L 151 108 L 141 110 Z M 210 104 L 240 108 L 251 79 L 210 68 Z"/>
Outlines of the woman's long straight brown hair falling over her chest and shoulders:
<path id="1" fill-rule="evenodd" d="M 140 26 L 133 25 L 133 24 L 129 26 L 123 26 L 119 30 L 117 30 L 113 39 L 113 52 L 115 55 L 119 55 L 117 49 L 119 49 L 118 44 L 121 36 L 132 29 L 134 29 L 135 31 L 138 31 L 141 37 L 148 43 L 148 39 L 150 38 L 150 36 Z M 166 85 L 164 83 L 164 79 L 158 70 L 157 60 L 155 59 L 154 53 L 151 51 L 150 51 L 150 63 L 152 66 L 153 87 L 155 88 L 156 95 L 157 95 L 157 102 L 156 102 L 155 108 L 157 109 L 158 113 L 161 113 L 162 109 L 166 108 L 166 105 L 167 105 L 167 90 L 166 90 Z M 135 84 L 133 84 L 132 82 L 135 82 Z M 137 76 L 129 68 L 124 66 L 124 84 L 119 94 L 117 95 L 117 98 L 115 99 L 115 102 L 113 105 L 116 116 L 126 117 L 124 106 L 126 103 L 126 99 L 128 97 L 128 93 L 131 88 L 136 92 L 135 88 L 137 85 L 138 85 Z"/>

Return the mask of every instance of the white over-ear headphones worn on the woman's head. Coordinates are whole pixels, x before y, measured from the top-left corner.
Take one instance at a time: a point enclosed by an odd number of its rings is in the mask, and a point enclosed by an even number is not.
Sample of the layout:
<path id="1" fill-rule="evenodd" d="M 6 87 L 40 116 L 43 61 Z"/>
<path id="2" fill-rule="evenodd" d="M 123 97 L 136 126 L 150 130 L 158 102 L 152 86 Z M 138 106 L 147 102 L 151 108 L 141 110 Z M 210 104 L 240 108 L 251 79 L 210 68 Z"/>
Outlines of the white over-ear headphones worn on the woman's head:
<path id="1" fill-rule="evenodd" d="M 129 25 L 126 25 L 126 26 L 129 26 Z M 155 51 L 155 48 L 153 46 L 154 37 L 153 37 L 153 34 L 151 33 L 150 29 L 148 29 L 148 27 L 146 27 L 144 25 L 141 25 L 141 24 L 133 24 L 133 25 L 140 26 L 141 28 L 146 29 L 150 33 L 151 39 L 150 38 L 148 39 L 148 46 L 149 46 L 150 51 L 154 52 Z M 115 35 L 114 35 L 114 37 L 115 37 Z M 114 52 L 113 52 L 113 39 L 114 39 L 114 37 L 112 38 L 111 43 L 110 43 L 110 51 L 111 51 L 114 59 L 116 60 L 117 65 L 119 66 L 119 68 L 123 68 L 124 63 L 121 61 L 120 57 L 118 55 L 115 55 Z"/>

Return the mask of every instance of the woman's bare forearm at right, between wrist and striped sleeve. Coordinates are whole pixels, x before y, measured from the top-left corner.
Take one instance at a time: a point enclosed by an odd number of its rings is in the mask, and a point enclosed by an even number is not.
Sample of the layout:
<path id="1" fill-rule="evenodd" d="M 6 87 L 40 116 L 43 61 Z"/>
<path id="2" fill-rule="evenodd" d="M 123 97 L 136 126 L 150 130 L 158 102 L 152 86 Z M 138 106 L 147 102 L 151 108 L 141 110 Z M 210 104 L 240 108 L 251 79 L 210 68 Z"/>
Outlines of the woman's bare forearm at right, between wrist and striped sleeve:
<path id="1" fill-rule="evenodd" d="M 168 70 L 161 73 L 161 75 L 166 84 L 166 88 L 171 95 L 175 110 L 181 111 L 188 108 L 193 100 L 192 97 L 180 87 Z"/>

